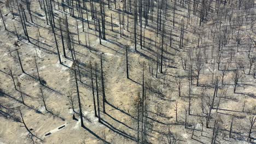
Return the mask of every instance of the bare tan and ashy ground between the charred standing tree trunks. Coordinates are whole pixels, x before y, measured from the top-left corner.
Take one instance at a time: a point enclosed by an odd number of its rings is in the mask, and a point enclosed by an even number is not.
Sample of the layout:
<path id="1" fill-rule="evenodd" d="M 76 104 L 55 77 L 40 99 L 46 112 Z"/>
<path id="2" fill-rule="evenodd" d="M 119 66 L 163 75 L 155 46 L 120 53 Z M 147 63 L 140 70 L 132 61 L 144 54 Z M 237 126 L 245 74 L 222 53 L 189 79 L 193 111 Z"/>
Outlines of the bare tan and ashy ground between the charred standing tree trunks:
<path id="1" fill-rule="evenodd" d="M 90 5 L 89 3 L 86 3 Z M 13 32 L 15 24 L 18 29 L 18 33 L 22 34 L 22 27 L 20 25 L 20 19 L 13 16 L 9 12 L 8 8 L 3 3 L 0 3 L 0 8 L 4 15 L 5 23 L 8 29 Z M 71 67 L 73 61 L 71 59 L 70 51 L 67 51 L 67 56 L 63 56 L 61 38 L 59 31 L 57 32 L 57 41 L 59 42 L 59 49 L 61 53 L 61 60 L 63 64 L 59 63 L 57 56 L 56 45 L 51 27 L 46 25 L 46 17 L 44 11 L 40 9 L 38 1 L 31 2 L 31 9 L 33 16 L 37 17 L 35 23 L 39 23 L 39 45 L 37 46 L 37 27 L 34 23 L 28 23 L 28 33 L 32 43 L 24 38 L 18 41 L 15 34 L 10 31 L 5 31 L 2 21 L 0 23 L 0 84 L 4 94 L 0 95 L 0 99 L 3 104 L 8 104 L 10 107 L 17 109 L 21 107 L 24 115 L 24 121 L 32 133 L 40 137 L 44 143 L 137 143 L 137 108 L 136 100 L 138 94 L 142 92 L 142 71 L 143 63 L 146 64 L 145 68 L 145 81 L 147 87 L 154 87 L 148 89 L 148 121 L 149 131 L 148 139 L 151 143 L 163 143 L 163 135 L 168 127 L 171 127 L 172 132 L 179 135 L 178 143 L 208 143 L 211 141 L 212 130 L 206 129 L 201 136 L 201 125 L 198 123 L 198 117 L 200 115 L 200 98 L 197 95 L 206 94 L 213 95 L 214 87 L 197 87 L 195 82 L 192 86 L 192 105 L 191 115 L 189 115 L 189 123 L 196 123 L 196 131 L 194 138 L 191 139 L 192 126 L 190 129 L 186 129 L 184 126 L 185 116 L 184 107 L 188 105 L 188 87 L 189 83 L 187 78 L 183 80 L 182 97 L 178 96 L 178 91 L 175 83 L 176 71 L 179 71 L 181 75 L 187 75 L 182 68 L 181 58 L 185 56 L 188 51 L 195 50 L 197 46 L 196 34 L 193 33 L 193 29 L 196 26 L 196 17 L 192 17 L 192 22 L 185 33 L 185 43 L 183 49 L 179 50 L 179 21 L 181 17 L 187 13 L 186 9 L 178 7 L 178 14 L 176 16 L 177 27 L 173 29 L 173 44 L 170 48 L 166 47 L 166 51 L 170 55 L 165 57 L 170 58 L 169 61 L 164 62 L 164 74 L 159 73 L 159 77 L 155 77 L 155 48 L 141 47 L 137 44 L 137 52 L 134 51 L 135 45 L 133 42 L 133 16 L 130 15 L 129 31 L 124 31 L 124 35 L 120 37 L 118 10 L 109 10 L 106 8 L 106 38 L 107 40 L 101 40 L 95 35 L 93 21 L 90 20 L 90 28 L 85 25 L 85 32 L 82 30 L 82 22 L 79 21 L 79 39 L 81 44 L 78 44 L 78 35 L 76 21 L 73 17 L 68 16 L 68 23 L 70 31 L 72 32 L 75 43 L 75 55 L 81 67 L 81 81 L 79 82 L 79 91 L 82 97 L 82 106 L 84 114 L 85 128 L 80 127 L 79 115 L 75 114 L 77 121 L 72 119 L 73 111 L 68 104 L 68 93 L 76 95 L 75 83 L 71 76 Z M 62 11 L 57 9 L 56 16 L 62 17 Z M 171 14 L 171 10 L 169 11 Z M 40 14 L 40 15 L 38 15 Z M 111 31 L 110 14 L 113 16 L 114 32 Z M 156 17 L 154 17 L 156 19 Z M 29 20 L 29 17 L 27 17 Z M 208 33 L 210 26 L 214 22 L 214 19 L 210 19 L 203 23 L 201 31 Z M 57 22 L 56 22 L 57 23 Z M 171 21 L 166 21 L 166 26 L 172 25 Z M 246 24 L 245 24 L 246 25 Z M 248 24 L 249 25 L 249 24 Z M 127 27 L 127 25 L 125 25 Z M 139 26 L 139 25 L 138 25 Z M 155 39 L 155 26 L 156 23 L 150 23 L 145 31 L 145 45 L 154 45 Z M 125 28 L 126 28 L 125 27 Z M 246 29 L 246 27 L 244 28 Z M 246 31 L 246 30 L 245 30 Z M 98 32 L 97 32 L 98 33 Z M 139 31 L 138 31 L 139 33 Z M 252 38 L 256 39 L 256 35 L 253 32 L 248 32 L 252 35 Z M 90 40 L 86 35 L 90 35 Z M 97 34 L 98 35 L 98 34 Z M 23 36 L 22 36 L 23 37 Z M 87 43 L 90 41 L 91 49 L 85 46 L 85 39 Z M 156 38 L 160 47 L 160 38 Z M 15 47 L 14 43 L 18 41 L 19 46 Z M 138 39 L 139 41 L 139 39 Z M 166 40 L 167 41 L 167 40 Z M 167 43 L 167 42 L 166 42 Z M 211 53 L 211 48 L 214 45 L 212 38 L 203 41 L 207 45 L 207 53 Z M 129 73 L 130 79 L 126 78 L 126 58 L 125 58 L 125 45 L 129 45 Z M 168 44 L 167 44 L 168 45 Z M 235 47 L 234 41 L 230 41 L 230 45 L 226 47 Z M 22 65 L 26 74 L 22 73 L 18 61 L 18 57 L 15 49 L 19 49 Z M 66 48 L 67 49 L 67 48 Z M 168 49 L 168 50 L 167 50 Z M 9 52 L 12 51 L 12 52 Z M 92 99 L 91 79 L 90 79 L 90 62 L 95 67 L 95 63 L 100 70 L 100 54 L 103 57 L 103 73 L 104 83 L 106 87 L 106 113 L 101 112 L 102 123 L 98 122 L 98 118 L 94 116 L 94 104 Z M 174 55 L 174 53 L 177 53 Z M 237 58 L 244 58 L 246 52 L 243 52 L 243 48 L 240 49 Z M 46 85 L 42 86 L 37 79 L 37 70 L 34 62 L 34 57 L 37 58 L 38 71 L 41 79 L 46 81 Z M 152 60 L 153 59 L 153 60 Z M 209 60 L 210 61 L 210 60 Z M 211 59 L 211 61 L 216 61 Z M 152 65 L 150 67 L 150 65 Z M 8 67 L 11 67 L 15 72 L 16 81 L 21 83 L 21 91 L 25 98 L 26 106 L 21 103 L 20 92 L 15 91 L 13 81 L 10 76 L 7 75 Z M 149 68 L 150 67 L 150 68 Z M 235 64 L 231 67 L 235 67 Z M 151 70 L 154 70 L 154 76 L 152 77 Z M 212 85 L 211 83 L 211 71 L 218 70 L 216 67 L 212 69 L 210 62 L 204 65 L 202 74 L 200 76 L 200 83 Z M 248 71 L 248 69 L 246 69 Z M 98 73 L 100 77 L 100 73 Z M 196 80 L 195 80 L 196 81 Z M 256 104 L 256 79 L 252 75 L 245 75 L 241 81 L 241 85 L 238 86 L 237 92 L 233 93 L 234 85 L 232 85 L 231 72 L 229 71 L 225 77 L 225 86 L 220 87 L 220 92 L 227 89 L 227 97 L 229 99 L 222 99 L 219 105 L 218 112 L 222 115 L 223 129 L 229 129 L 231 116 L 236 115 L 236 125 L 234 131 L 241 133 L 241 135 L 247 135 L 246 130 L 240 130 L 247 124 L 247 115 L 242 113 L 243 102 L 246 101 L 245 111 L 252 109 Z M 98 80 L 98 83 L 101 83 Z M 94 83 L 95 84 L 95 83 Z M 99 84 L 100 85 L 100 84 Z M 164 85 L 164 86 L 163 86 Z M 40 94 L 39 88 L 43 89 L 44 95 L 48 97 L 46 105 L 49 111 L 46 111 L 42 105 L 38 95 Z M 161 93 L 156 93 L 161 89 Z M 151 90 L 151 91 L 150 91 Z M 100 99 L 102 99 L 101 87 L 100 87 Z M 232 100 L 230 100 L 232 99 Z M 176 123 L 175 103 L 178 103 L 178 121 Z M 102 100 L 100 100 L 102 105 Z M 79 112 L 78 106 L 75 106 L 75 111 Z M 102 111 L 102 110 L 101 110 Z M 19 117 L 19 112 L 15 110 L 15 115 Z M 246 119 L 246 120 L 245 120 Z M 27 131 L 23 124 L 15 122 L 13 119 L 6 119 L 0 117 L 0 144 L 2 143 L 30 143 L 31 140 L 27 138 Z M 153 126 L 152 126 L 153 125 Z M 65 126 L 65 127 L 63 127 Z M 62 128 L 61 128 L 62 127 Z M 49 134 L 50 135 L 46 135 Z M 226 131 L 222 134 L 228 135 Z M 224 136 L 225 137 L 225 136 Z M 246 143 L 246 140 L 240 141 L 237 139 L 230 139 L 225 137 L 223 140 L 219 138 L 219 143 Z M 40 141 L 36 140 L 38 143 Z"/>

